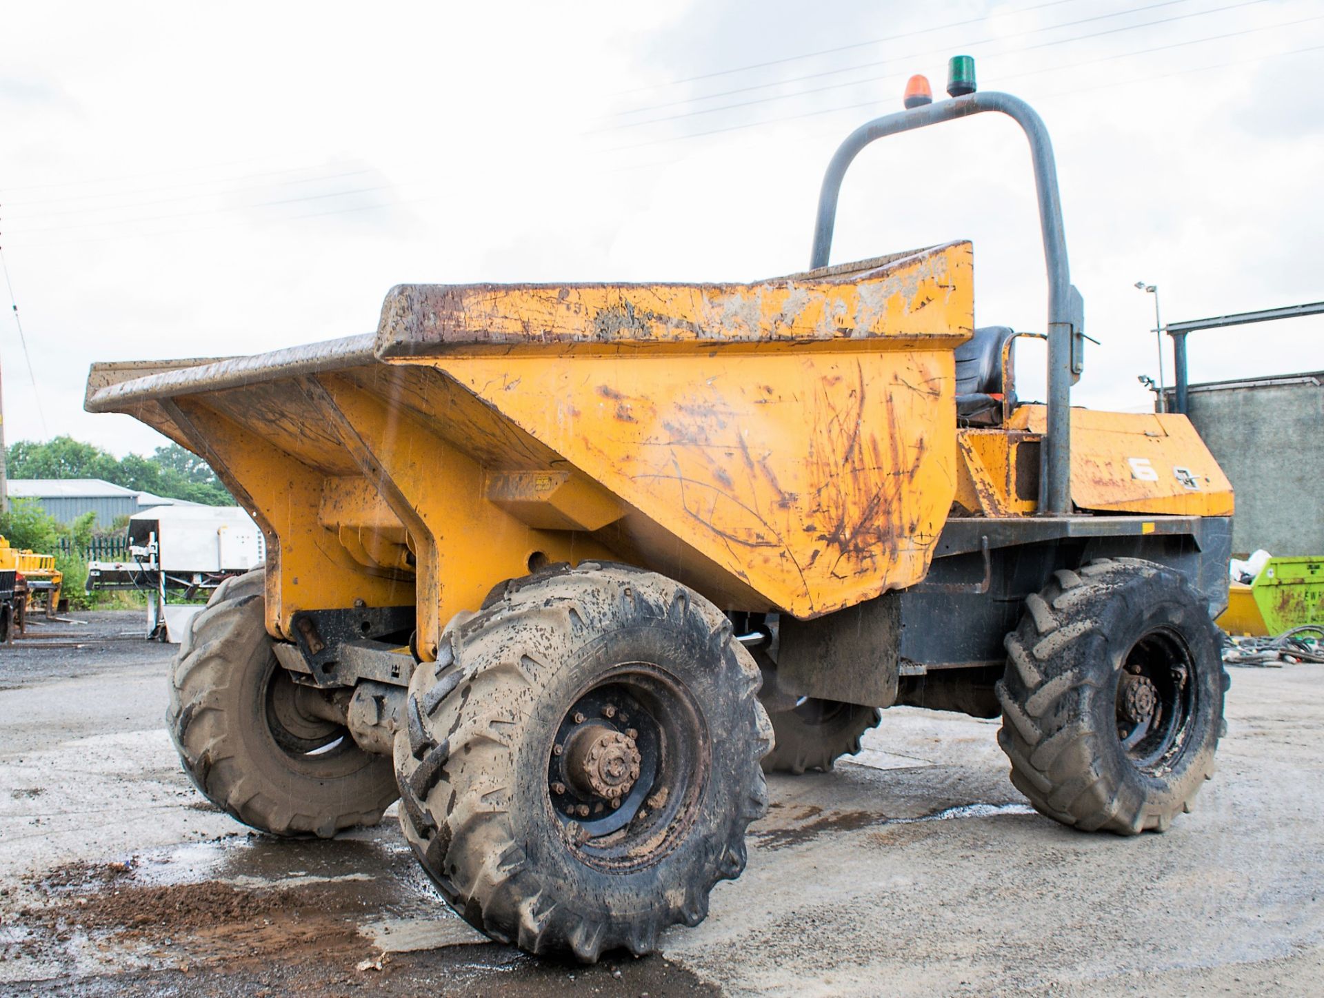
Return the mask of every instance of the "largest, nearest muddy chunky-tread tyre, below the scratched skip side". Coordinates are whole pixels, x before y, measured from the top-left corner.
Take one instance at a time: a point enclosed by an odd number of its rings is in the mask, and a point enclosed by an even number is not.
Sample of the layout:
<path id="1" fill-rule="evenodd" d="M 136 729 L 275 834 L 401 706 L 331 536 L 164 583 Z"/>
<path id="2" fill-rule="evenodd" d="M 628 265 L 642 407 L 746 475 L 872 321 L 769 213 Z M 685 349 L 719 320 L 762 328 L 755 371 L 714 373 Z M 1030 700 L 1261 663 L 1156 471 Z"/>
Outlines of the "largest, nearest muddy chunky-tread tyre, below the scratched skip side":
<path id="1" fill-rule="evenodd" d="M 405 837 L 495 940 L 649 953 L 744 870 L 768 805 L 759 684 L 730 621 L 662 576 L 585 563 L 507 582 L 409 683 Z"/>

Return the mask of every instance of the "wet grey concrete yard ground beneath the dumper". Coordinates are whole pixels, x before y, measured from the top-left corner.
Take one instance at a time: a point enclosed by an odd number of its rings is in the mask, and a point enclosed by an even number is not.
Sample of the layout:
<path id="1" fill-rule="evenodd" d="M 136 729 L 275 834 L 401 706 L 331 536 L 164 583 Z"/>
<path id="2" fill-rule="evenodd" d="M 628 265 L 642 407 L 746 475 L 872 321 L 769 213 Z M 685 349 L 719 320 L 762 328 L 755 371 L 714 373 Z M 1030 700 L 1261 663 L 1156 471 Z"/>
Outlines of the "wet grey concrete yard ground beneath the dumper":
<path id="1" fill-rule="evenodd" d="M 218 813 L 162 727 L 173 649 L 79 619 L 0 649 L 7 994 L 1319 994 L 1324 666 L 1235 670 L 1219 774 L 1139 839 L 1033 814 L 996 723 L 890 711 L 771 781 L 703 925 L 581 968 L 470 930 L 393 815 L 282 842 Z"/>

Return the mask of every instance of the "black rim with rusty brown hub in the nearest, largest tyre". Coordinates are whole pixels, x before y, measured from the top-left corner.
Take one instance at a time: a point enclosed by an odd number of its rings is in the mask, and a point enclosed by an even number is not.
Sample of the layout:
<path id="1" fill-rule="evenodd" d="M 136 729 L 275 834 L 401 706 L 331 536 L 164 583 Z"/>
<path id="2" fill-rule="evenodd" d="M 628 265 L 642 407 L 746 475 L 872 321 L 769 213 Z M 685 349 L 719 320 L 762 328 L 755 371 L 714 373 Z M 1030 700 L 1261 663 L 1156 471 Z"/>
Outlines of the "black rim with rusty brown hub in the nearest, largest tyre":
<path id="1" fill-rule="evenodd" d="M 690 691 L 630 662 L 575 698 L 547 758 L 547 802 L 567 846 L 620 872 L 657 863 L 688 833 L 711 748 Z"/>

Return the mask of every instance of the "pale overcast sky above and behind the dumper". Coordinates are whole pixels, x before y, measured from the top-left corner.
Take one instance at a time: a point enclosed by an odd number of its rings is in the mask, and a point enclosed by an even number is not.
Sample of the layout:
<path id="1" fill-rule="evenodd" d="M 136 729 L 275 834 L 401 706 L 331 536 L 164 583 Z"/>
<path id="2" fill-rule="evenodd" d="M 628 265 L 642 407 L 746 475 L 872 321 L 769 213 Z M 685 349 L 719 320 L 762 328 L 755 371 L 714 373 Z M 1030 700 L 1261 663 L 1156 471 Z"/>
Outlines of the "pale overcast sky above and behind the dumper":
<path id="1" fill-rule="evenodd" d="M 940 97 L 957 52 L 1053 134 L 1102 340 L 1076 404 L 1147 404 L 1137 279 L 1164 320 L 1324 299 L 1324 0 L 0 0 L 0 246 L 32 361 L 0 319 L 5 435 L 150 451 L 82 412 L 90 361 L 368 332 L 399 282 L 802 269 L 833 148 L 911 73 Z M 1041 330 L 1029 158 L 988 118 L 866 151 L 833 259 L 969 238 L 976 322 Z M 1321 334 L 1197 334 L 1192 377 L 1324 368 Z M 1041 364 L 1021 355 L 1022 394 Z"/>

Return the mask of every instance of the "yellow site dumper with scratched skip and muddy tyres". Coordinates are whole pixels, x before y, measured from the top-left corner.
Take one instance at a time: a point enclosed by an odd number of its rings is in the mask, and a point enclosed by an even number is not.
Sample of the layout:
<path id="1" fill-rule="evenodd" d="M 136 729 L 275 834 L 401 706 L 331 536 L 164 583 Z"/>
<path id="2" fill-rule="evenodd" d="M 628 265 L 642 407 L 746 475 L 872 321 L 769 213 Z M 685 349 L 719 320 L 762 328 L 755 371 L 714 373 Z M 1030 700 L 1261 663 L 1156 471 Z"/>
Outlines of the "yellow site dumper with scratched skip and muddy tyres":
<path id="1" fill-rule="evenodd" d="M 1046 405 L 968 242 L 829 265 L 865 144 L 985 111 L 1033 152 Z M 1050 818 L 1165 830 L 1214 772 L 1233 496 L 1184 416 L 1070 408 L 1080 315 L 1042 122 L 972 93 L 847 139 L 805 273 L 399 286 L 373 335 L 94 365 L 266 533 L 176 659 L 184 768 L 277 835 L 399 797 L 457 912 L 587 961 L 702 921 L 764 770 L 895 704 L 1001 715 Z"/>

